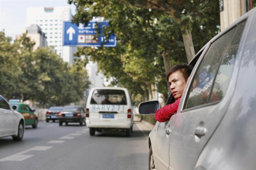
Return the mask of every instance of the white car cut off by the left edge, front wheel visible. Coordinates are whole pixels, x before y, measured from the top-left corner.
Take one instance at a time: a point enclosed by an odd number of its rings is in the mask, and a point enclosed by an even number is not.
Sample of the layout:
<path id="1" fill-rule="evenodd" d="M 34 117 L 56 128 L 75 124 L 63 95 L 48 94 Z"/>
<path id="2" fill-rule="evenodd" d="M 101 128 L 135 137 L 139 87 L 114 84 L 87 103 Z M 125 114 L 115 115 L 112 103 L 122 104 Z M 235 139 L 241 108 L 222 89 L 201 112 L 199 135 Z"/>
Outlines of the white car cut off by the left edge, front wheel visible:
<path id="1" fill-rule="evenodd" d="M 22 140 L 24 125 L 25 120 L 22 114 L 13 110 L 6 99 L 0 95 L 0 138 L 12 136 L 15 141 Z"/>

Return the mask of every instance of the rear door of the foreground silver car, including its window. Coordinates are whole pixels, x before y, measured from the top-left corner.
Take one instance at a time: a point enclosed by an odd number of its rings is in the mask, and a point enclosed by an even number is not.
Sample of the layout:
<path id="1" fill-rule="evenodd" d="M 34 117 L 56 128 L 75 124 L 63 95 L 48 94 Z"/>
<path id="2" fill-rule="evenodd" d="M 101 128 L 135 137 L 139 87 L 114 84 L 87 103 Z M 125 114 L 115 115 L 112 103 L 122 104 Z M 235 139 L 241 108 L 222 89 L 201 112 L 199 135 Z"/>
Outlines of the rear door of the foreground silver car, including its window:
<path id="1" fill-rule="evenodd" d="M 169 169 L 194 169 L 201 150 L 224 116 L 233 94 L 238 71 L 236 55 L 245 21 L 215 38 L 192 71 L 177 114 L 172 119 Z M 235 66 L 236 65 L 236 66 Z M 231 85 L 230 85 L 231 84 Z"/>

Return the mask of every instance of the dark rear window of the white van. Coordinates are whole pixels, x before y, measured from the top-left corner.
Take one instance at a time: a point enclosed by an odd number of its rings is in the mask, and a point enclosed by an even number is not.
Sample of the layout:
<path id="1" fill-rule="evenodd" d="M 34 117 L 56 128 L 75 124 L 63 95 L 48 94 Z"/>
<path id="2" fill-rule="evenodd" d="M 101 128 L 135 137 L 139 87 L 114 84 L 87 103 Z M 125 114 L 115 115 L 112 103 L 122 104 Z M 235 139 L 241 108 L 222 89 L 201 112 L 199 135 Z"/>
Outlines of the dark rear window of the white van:
<path id="1" fill-rule="evenodd" d="M 127 105 L 125 91 L 99 89 L 94 90 L 90 104 L 97 105 Z"/>

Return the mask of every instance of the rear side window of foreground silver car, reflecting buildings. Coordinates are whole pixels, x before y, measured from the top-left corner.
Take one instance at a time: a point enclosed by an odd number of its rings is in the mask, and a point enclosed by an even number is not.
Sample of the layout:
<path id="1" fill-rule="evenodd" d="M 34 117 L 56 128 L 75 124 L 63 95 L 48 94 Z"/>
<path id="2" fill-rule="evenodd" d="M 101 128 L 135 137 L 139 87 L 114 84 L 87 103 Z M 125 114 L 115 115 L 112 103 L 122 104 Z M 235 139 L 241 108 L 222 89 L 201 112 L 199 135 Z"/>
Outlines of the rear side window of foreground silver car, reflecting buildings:
<path id="1" fill-rule="evenodd" d="M 204 56 L 189 89 L 185 109 L 223 98 L 230 82 L 245 22 L 213 42 Z"/>

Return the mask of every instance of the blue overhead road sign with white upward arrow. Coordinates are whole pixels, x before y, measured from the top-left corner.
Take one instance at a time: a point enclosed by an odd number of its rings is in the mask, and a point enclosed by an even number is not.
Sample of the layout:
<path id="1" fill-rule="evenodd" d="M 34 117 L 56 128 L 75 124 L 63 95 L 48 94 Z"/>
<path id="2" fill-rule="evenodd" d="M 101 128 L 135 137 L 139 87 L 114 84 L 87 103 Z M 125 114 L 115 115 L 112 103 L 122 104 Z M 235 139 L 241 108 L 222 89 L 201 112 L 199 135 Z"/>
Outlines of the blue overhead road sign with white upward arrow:
<path id="1" fill-rule="evenodd" d="M 109 40 L 105 40 L 105 36 L 98 36 L 96 26 L 99 26 L 101 34 L 103 33 L 102 27 L 108 26 L 107 22 L 89 22 L 87 26 L 79 23 L 79 26 L 71 22 L 64 21 L 63 31 L 63 45 L 64 46 L 100 46 L 104 44 L 104 47 L 115 47 L 116 36 L 111 34 Z"/>

